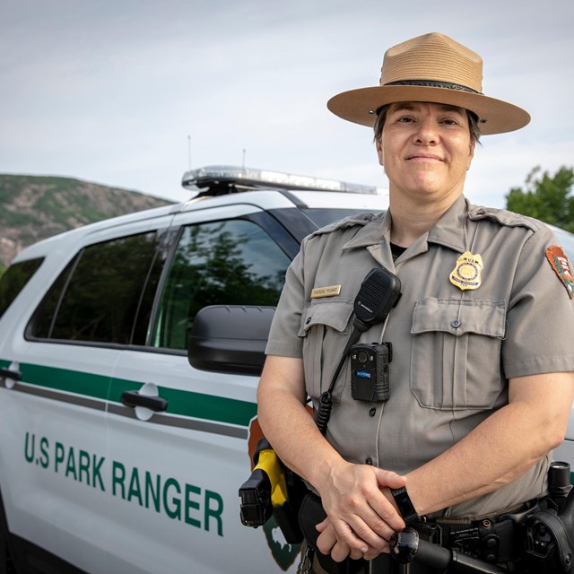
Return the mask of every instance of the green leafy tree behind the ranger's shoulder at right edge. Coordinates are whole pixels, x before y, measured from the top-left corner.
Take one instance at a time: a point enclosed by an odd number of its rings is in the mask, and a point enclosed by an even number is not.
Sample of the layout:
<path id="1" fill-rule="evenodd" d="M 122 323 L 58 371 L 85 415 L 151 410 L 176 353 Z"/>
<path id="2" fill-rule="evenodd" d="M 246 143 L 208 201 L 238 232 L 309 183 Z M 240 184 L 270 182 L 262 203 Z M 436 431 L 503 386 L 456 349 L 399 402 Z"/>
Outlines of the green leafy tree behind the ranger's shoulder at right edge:
<path id="1" fill-rule="evenodd" d="M 512 187 L 506 196 L 511 212 L 522 213 L 574 232 L 574 170 L 561 167 L 553 176 L 535 167 L 526 177 L 526 185 Z"/>

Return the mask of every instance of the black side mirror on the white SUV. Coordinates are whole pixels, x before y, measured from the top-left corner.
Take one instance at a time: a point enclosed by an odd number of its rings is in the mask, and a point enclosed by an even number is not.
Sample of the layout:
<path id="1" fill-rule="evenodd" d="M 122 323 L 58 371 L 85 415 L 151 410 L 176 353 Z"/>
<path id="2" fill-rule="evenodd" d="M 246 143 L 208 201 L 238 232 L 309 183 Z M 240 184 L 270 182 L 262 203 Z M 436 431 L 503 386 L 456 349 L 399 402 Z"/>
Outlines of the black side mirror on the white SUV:
<path id="1" fill-rule="evenodd" d="M 187 360 L 200 370 L 260 375 L 274 307 L 212 305 L 200 309 Z"/>

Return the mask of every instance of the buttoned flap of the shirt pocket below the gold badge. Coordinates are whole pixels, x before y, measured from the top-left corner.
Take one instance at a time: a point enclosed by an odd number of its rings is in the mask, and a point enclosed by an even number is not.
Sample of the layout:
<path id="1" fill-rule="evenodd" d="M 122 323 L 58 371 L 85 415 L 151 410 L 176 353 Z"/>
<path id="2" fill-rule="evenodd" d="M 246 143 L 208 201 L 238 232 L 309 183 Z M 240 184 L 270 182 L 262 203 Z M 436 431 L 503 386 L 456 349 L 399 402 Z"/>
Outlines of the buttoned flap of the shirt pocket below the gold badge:
<path id="1" fill-rule="evenodd" d="M 419 335 L 441 331 L 460 336 L 469 333 L 504 338 L 506 325 L 504 301 L 418 300 L 414 307 L 411 333 Z"/>

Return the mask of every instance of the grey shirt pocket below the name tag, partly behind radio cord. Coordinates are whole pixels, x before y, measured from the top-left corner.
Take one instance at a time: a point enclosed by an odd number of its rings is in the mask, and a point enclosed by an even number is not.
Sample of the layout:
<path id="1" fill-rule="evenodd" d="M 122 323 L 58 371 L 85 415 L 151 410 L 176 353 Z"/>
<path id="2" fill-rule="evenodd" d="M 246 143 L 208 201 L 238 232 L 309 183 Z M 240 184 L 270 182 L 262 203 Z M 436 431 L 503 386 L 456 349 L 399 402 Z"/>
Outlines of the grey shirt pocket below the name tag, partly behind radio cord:
<path id="1" fill-rule="evenodd" d="M 352 300 L 342 298 L 311 300 L 303 309 L 298 335 L 303 338 L 305 386 L 313 398 L 329 388 L 335 375 L 351 336 L 352 310 Z M 341 398 L 348 380 L 347 370 L 345 364 L 333 389 L 334 401 Z"/>

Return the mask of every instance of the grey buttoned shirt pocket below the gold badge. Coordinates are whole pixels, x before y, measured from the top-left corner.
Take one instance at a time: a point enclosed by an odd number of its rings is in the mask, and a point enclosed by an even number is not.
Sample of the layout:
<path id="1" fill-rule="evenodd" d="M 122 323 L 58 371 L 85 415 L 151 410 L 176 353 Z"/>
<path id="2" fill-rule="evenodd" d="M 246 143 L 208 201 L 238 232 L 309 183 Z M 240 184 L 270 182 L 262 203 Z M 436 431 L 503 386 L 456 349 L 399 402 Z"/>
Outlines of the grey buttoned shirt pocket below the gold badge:
<path id="1" fill-rule="evenodd" d="M 500 367 L 504 301 L 418 300 L 413 312 L 411 389 L 423 407 L 491 408 L 505 383 Z"/>

